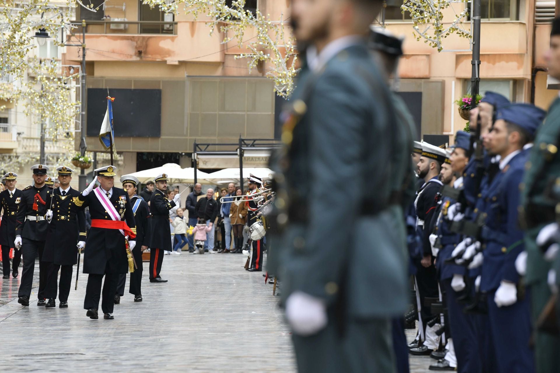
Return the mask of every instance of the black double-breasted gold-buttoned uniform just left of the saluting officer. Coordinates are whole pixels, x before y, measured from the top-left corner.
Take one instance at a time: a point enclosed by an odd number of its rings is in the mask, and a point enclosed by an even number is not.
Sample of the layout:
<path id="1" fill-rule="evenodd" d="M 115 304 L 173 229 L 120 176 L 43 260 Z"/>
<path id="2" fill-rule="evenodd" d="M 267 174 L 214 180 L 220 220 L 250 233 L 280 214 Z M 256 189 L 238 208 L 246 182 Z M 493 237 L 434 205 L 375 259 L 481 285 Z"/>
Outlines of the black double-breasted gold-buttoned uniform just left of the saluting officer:
<path id="1" fill-rule="evenodd" d="M 74 203 L 80 192 L 53 191 L 53 219 L 46 235 L 43 261 L 49 262 L 45 298 L 57 298 L 57 277 L 60 270 L 59 300 L 68 301 L 72 282 L 72 266 L 78 262 L 78 241 L 86 240 L 86 214 Z"/>

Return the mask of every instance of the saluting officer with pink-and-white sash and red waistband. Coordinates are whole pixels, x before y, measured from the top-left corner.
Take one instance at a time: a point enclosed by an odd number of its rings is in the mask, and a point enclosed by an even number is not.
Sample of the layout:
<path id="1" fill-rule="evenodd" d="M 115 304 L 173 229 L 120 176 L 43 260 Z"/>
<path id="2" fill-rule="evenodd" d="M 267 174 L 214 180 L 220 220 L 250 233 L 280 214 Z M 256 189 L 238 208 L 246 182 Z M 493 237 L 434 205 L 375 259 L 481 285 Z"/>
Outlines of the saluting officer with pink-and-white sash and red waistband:
<path id="1" fill-rule="evenodd" d="M 128 193 L 114 187 L 116 167 L 105 166 L 94 170 L 100 186 L 94 181 L 74 199 L 78 207 L 90 207 L 91 229 L 86 239 L 83 273 L 88 273 L 86 298 L 83 308 L 86 316 L 98 319 L 97 308 L 103 284 L 101 310 L 104 319 L 114 319 L 113 306 L 120 273 L 129 268 L 128 251 L 136 245 L 136 224 Z M 129 249 L 127 249 L 127 239 Z M 132 256 L 130 257 L 132 262 Z"/>

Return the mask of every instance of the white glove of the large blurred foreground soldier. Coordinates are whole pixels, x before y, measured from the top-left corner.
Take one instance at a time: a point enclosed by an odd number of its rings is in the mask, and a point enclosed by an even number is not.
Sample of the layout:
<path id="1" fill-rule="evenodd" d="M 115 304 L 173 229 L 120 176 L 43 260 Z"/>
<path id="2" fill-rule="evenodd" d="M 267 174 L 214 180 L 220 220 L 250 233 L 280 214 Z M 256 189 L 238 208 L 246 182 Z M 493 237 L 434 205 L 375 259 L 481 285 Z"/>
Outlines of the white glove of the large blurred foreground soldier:
<path id="1" fill-rule="evenodd" d="M 328 322 L 324 301 L 301 291 L 288 296 L 286 318 L 293 332 L 304 337 L 318 333 Z"/>

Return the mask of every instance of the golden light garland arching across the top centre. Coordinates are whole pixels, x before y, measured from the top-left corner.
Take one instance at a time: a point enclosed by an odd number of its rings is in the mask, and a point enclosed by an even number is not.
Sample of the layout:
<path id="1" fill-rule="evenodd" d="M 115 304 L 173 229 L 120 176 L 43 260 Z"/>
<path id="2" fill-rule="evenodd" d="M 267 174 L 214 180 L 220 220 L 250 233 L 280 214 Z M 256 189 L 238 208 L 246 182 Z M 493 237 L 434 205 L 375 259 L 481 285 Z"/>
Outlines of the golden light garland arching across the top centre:
<path id="1" fill-rule="evenodd" d="M 233 0 L 231 5 L 226 0 L 143 0 L 150 7 L 158 7 L 166 13 L 175 13 L 183 7 L 185 14 L 206 15 L 210 21 L 210 34 L 219 27 L 226 36 L 222 44 L 232 40 L 237 41 L 241 48 L 244 44 L 248 53 L 241 53 L 238 58 L 248 59 L 249 73 L 259 64 L 268 71 L 265 74 L 274 81 L 274 91 L 278 96 L 290 97 L 293 92 L 293 79 L 296 77 L 297 51 L 296 42 L 287 30 L 287 23 L 283 15 L 278 21 L 270 20 L 270 15 L 264 16 L 259 10 L 255 13 L 245 10 L 245 0 Z M 246 31 L 255 31 L 256 35 L 244 40 Z M 228 36 L 229 35 L 229 36 Z"/>

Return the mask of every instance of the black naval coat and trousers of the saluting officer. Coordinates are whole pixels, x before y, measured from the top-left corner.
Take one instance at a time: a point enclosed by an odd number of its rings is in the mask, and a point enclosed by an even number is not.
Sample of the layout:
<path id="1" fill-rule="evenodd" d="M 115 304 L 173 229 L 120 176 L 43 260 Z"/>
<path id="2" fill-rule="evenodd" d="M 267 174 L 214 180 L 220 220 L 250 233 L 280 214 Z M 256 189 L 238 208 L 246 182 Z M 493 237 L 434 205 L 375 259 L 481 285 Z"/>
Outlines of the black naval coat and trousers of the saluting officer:
<path id="1" fill-rule="evenodd" d="M 104 190 L 102 192 L 105 193 Z M 128 193 L 122 188 L 111 188 L 109 201 L 120 214 L 120 219 L 126 220 L 132 232 L 136 232 L 132 206 L 128 199 Z M 87 196 L 80 194 L 74 203 L 78 207 L 90 207 L 92 221 L 110 220 L 109 213 L 95 195 L 95 190 Z M 93 225 L 93 223 L 92 223 Z M 136 238 L 128 238 L 129 241 Z M 139 248 L 134 248 L 133 252 Z M 105 276 L 103 284 L 101 310 L 103 313 L 113 313 L 116 286 L 119 280 L 119 273 L 127 273 L 128 258 L 124 245 L 124 235 L 118 229 L 97 228 L 92 226 L 87 235 L 86 248 L 83 256 L 83 273 L 88 273 L 86 298 L 83 301 L 84 309 L 97 309 L 101 296 L 101 281 Z"/>

